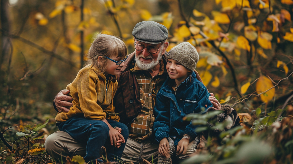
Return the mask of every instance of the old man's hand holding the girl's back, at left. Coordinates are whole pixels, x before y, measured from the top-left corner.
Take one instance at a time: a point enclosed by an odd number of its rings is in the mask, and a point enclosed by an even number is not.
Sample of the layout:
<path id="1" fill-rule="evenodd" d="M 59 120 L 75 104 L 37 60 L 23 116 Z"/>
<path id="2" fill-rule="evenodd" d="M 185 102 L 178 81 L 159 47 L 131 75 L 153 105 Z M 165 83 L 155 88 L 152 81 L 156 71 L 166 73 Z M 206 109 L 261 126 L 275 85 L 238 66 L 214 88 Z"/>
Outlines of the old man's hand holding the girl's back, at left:
<path id="1" fill-rule="evenodd" d="M 69 112 L 70 107 L 72 106 L 72 97 L 68 96 L 70 93 L 69 90 L 63 89 L 60 91 L 57 96 L 54 99 L 54 103 L 56 105 L 56 108 L 60 113 L 62 112 Z"/>

